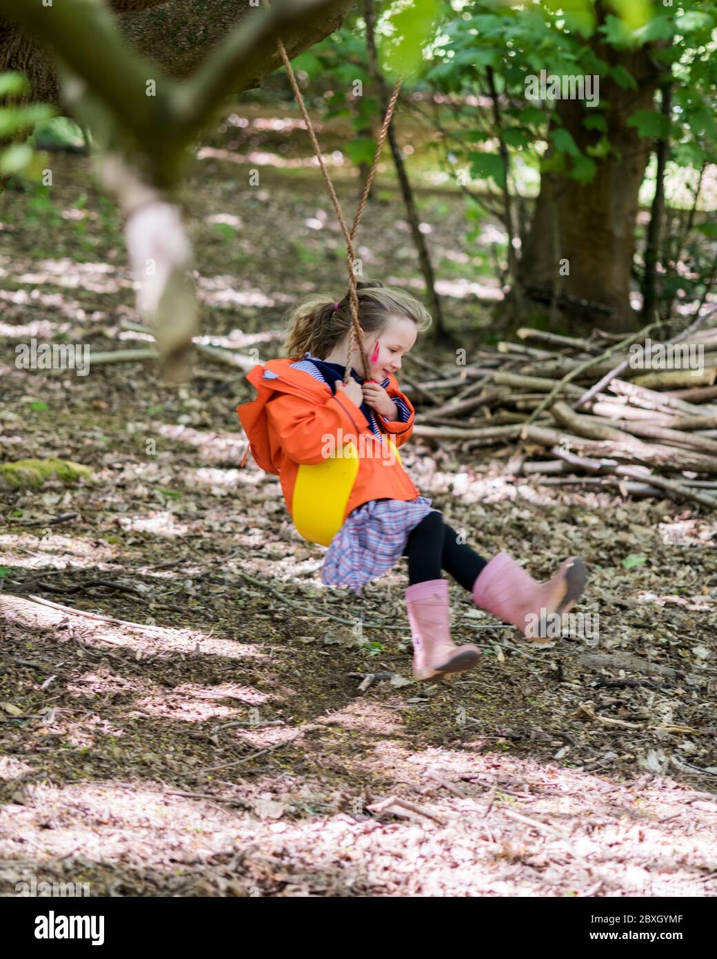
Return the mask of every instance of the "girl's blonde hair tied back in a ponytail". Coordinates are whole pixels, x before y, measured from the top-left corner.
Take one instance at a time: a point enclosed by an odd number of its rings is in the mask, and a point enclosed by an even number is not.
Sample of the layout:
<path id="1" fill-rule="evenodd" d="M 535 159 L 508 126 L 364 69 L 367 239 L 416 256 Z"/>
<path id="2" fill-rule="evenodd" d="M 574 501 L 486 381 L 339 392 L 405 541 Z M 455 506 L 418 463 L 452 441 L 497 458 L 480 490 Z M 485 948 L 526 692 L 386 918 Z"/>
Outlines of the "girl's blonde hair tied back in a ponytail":
<path id="1" fill-rule="evenodd" d="M 389 316 L 412 319 L 419 332 L 431 323 L 426 307 L 405 290 L 384 287 L 381 280 L 358 280 L 358 322 L 364 333 L 380 335 Z M 328 293 L 312 293 L 287 311 L 289 335 L 284 344 L 289 359 L 300 359 L 309 352 L 323 360 L 351 331 L 349 294 L 339 301 Z"/>

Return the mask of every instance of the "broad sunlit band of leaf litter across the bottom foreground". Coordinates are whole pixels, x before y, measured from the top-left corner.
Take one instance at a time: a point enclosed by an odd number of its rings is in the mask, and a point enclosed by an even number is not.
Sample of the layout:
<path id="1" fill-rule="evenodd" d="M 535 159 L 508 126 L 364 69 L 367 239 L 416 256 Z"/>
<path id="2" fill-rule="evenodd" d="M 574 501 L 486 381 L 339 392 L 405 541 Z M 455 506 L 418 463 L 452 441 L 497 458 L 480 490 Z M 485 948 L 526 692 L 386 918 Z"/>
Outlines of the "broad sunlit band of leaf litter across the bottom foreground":
<path id="1" fill-rule="evenodd" d="M 0 807 L 0 855 L 30 854 L 43 874 L 78 850 L 89 868 L 163 873 L 170 860 L 173 872 L 220 888 L 229 875 L 261 888 L 278 871 L 285 895 L 294 885 L 349 895 L 714 895 L 717 806 L 669 779 L 613 784 L 445 748 L 402 759 L 401 782 L 368 799 L 290 774 L 268 792 L 266 776 L 239 793 L 229 782 L 178 794 L 151 782 L 28 785 L 23 806 Z"/>

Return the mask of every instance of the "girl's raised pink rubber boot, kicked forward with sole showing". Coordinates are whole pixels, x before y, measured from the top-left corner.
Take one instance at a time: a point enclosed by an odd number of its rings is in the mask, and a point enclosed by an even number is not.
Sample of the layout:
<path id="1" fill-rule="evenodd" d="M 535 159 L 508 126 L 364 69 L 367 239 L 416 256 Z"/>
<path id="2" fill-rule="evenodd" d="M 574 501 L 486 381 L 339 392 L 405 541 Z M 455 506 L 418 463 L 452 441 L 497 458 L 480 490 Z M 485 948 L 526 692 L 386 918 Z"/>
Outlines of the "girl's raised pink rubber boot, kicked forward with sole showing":
<path id="1" fill-rule="evenodd" d="M 529 639 L 545 639 L 546 618 L 567 613 L 587 579 L 577 556 L 567 559 L 552 579 L 539 583 L 507 552 L 499 552 L 475 579 L 473 597 L 477 606 L 517 626 Z"/>

